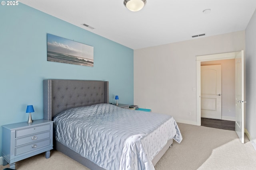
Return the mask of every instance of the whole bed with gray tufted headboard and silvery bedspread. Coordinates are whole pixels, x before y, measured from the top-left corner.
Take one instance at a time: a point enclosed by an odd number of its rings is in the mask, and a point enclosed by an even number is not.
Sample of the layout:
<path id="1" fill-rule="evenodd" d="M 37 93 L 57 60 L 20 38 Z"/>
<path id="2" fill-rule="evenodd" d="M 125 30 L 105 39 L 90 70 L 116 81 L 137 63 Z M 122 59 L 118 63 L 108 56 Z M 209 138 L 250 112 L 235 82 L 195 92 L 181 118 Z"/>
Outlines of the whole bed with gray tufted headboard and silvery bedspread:
<path id="1" fill-rule="evenodd" d="M 154 170 L 173 139 L 182 141 L 171 116 L 108 104 L 107 81 L 52 79 L 43 86 L 44 119 L 54 120 L 54 148 L 91 170 Z"/>

